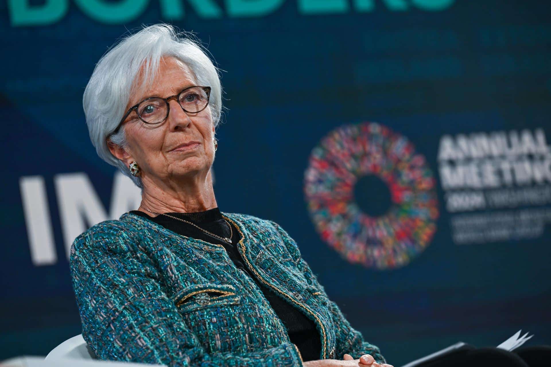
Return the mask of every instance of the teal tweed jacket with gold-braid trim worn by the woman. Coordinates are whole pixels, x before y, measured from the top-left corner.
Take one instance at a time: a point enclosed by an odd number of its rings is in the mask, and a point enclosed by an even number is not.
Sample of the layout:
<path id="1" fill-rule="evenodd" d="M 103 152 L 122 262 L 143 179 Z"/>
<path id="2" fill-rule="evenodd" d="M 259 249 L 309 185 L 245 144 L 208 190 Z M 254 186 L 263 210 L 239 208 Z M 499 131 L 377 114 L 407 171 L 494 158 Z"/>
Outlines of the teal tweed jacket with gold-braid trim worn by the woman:
<path id="1" fill-rule="evenodd" d="M 258 279 L 314 321 L 320 359 L 385 358 L 364 341 L 277 223 L 222 213 Z M 82 335 L 98 359 L 169 366 L 301 366 L 299 349 L 257 284 L 221 245 L 124 213 L 71 248 Z"/>

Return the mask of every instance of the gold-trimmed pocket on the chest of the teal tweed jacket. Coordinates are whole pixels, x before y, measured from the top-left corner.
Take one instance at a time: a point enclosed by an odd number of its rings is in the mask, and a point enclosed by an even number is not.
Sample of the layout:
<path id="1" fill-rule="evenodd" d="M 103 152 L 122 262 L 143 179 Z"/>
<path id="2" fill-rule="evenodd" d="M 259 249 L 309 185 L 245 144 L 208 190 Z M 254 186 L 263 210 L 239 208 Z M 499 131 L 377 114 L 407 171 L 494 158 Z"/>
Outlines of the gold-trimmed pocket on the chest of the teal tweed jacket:
<path id="1" fill-rule="evenodd" d="M 241 295 L 230 284 L 193 284 L 174 296 L 174 304 L 181 311 L 239 304 Z"/>

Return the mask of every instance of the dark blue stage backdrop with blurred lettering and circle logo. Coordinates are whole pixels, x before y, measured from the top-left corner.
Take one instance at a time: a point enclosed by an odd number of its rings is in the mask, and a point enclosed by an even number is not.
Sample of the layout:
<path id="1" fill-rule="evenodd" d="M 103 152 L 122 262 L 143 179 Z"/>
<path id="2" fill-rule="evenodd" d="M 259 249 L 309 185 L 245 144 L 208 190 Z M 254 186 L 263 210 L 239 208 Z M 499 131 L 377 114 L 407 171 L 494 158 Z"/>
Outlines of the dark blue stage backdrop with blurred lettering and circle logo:
<path id="1" fill-rule="evenodd" d="M 0 359 L 81 331 L 67 250 L 139 203 L 96 156 L 82 94 L 107 47 L 160 21 L 224 70 L 220 210 L 278 222 L 390 363 L 520 328 L 551 343 L 549 15 L 534 0 L 0 2 Z"/>

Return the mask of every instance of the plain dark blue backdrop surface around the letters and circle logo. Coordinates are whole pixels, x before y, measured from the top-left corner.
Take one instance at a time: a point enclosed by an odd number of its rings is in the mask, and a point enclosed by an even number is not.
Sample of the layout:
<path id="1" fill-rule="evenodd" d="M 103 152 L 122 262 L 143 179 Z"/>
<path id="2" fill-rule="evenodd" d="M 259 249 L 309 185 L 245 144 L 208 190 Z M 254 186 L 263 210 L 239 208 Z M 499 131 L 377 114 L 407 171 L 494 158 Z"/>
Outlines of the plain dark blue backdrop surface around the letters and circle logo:
<path id="1" fill-rule="evenodd" d="M 376 121 L 407 136 L 437 176 L 444 134 L 543 127 L 551 140 L 549 15 L 547 2 L 533 0 L 456 1 L 435 12 L 377 1 L 369 13 L 307 15 L 293 0 L 264 17 L 203 19 L 187 7 L 171 21 L 197 32 L 225 70 L 229 111 L 214 163 L 220 210 L 288 231 L 351 324 L 395 366 L 457 341 L 496 346 L 520 328 L 535 334 L 527 345 L 550 344 L 549 228 L 532 240 L 453 244 L 439 188 L 437 231 L 409 265 L 349 264 L 310 221 L 310 152 L 340 125 Z M 107 47 L 159 21 L 170 19 L 156 1 L 116 25 L 71 2 L 55 24 L 13 26 L 0 2 L 0 360 L 45 355 L 80 333 L 53 177 L 87 173 L 109 207 L 115 168 L 89 141 L 82 94 Z M 55 265 L 31 262 L 18 182 L 32 175 L 46 182 Z"/>

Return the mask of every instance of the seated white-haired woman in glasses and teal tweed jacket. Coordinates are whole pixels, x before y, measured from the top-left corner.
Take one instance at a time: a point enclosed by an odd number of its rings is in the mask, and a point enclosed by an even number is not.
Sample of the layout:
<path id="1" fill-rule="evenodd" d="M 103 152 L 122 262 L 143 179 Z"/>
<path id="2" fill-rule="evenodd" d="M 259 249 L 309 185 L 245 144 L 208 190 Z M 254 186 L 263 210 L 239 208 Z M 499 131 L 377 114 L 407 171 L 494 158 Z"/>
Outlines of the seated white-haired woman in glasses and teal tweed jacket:
<path id="1" fill-rule="evenodd" d="M 282 227 L 218 209 L 221 111 L 218 69 L 169 25 L 96 65 L 84 92 L 92 143 L 142 202 L 74 240 L 85 341 L 99 359 L 169 366 L 390 366 Z"/>

